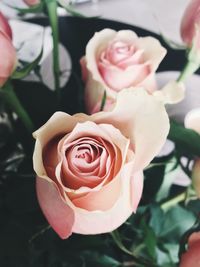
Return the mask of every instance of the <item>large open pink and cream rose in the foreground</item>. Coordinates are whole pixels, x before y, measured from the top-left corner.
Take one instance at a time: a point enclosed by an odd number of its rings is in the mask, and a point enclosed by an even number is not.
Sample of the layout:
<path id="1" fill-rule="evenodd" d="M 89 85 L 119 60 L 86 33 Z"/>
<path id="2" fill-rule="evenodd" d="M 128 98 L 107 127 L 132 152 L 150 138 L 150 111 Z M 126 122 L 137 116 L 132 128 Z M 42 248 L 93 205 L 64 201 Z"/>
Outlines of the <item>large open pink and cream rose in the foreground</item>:
<path id="1" fill-rule="evenodd" d="M 124 223 L 168 130 L 163 104 L 142 88 L 121 91 L 111 112 L 56 112 L 37 130 L 37 197 L 58 235 L 105 233 Z"/>

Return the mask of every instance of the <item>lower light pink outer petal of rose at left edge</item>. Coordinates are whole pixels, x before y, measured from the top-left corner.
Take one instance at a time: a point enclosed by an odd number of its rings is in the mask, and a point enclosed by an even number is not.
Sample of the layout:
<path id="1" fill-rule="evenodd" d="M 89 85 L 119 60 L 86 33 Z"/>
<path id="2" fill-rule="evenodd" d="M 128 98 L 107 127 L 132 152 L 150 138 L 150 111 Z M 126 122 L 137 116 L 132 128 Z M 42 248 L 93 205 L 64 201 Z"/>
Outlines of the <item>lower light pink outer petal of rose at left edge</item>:
<path id="1" fill-rule="evenodd" d="M 17 65 L 17 55 L 11 39 L 0 30 L 0 87 L 11 76 Z"/>

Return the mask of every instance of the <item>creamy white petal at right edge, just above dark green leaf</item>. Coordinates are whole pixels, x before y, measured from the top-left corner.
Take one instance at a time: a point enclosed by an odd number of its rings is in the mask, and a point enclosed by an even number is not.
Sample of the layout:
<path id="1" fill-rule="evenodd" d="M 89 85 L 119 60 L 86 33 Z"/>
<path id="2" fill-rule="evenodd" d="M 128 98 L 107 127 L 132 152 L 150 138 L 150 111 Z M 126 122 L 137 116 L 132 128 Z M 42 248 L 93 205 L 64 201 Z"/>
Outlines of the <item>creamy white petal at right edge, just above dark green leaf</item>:
<path id="1" fill-rule="evenodd" d="M 200 108 L 192 109 L 185 116 L 185 127 L 200 134 Z"/>

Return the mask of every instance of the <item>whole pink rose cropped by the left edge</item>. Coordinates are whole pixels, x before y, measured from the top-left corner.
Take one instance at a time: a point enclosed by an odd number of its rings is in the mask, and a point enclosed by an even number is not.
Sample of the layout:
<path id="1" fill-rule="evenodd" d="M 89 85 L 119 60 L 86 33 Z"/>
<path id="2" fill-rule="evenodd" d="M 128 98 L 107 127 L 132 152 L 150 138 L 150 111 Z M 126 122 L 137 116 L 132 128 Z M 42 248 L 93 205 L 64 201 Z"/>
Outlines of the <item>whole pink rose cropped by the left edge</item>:
<path id="1" fill-rule="evenodd" d="M 11 38 L 11 29 L 3 14 L 0 13 L 0 87 L 16 67 L 17 56 Z"/>

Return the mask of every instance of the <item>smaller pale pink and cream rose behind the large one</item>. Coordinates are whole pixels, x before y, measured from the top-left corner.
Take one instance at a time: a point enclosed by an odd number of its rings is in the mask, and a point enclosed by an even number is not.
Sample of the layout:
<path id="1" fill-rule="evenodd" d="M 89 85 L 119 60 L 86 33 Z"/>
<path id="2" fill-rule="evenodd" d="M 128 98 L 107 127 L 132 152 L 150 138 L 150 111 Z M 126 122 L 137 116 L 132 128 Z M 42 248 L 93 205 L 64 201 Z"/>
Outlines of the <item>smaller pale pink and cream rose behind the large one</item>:
<path id="1" fill-rule="evenodd" d="M 149 93 L 155 91 L 155 71 L 165 54 L 166 49 L 155 38 L 138 38 L 130 30 L 95 33 L 81 59 L 87 111 L 99 111 L 105 90 L 105 110 L 112 107 L 124 88 L 143 86 Z"/>

